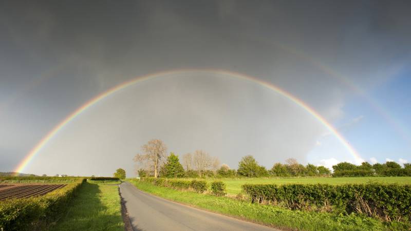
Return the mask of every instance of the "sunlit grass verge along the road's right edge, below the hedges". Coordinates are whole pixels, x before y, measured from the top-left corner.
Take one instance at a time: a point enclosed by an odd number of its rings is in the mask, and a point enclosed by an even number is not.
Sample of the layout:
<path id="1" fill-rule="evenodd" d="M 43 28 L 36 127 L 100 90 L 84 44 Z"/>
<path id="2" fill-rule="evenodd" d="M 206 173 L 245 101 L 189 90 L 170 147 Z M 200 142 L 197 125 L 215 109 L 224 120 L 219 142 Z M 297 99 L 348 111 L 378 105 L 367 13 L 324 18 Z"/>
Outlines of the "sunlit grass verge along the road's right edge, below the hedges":
<path id="1" fill-rule="evenodd" d="M 410 228 L 404 223 L 391 222 L 388 224 L 356 214 L 342 215 L 290 210 L 227 197 L 157 187 L 145 182 L 130 182 L 140 190 L 165 199 L 285 230 L 404 230 Z"/>

